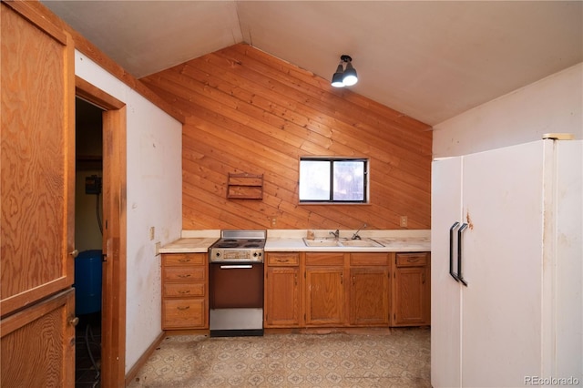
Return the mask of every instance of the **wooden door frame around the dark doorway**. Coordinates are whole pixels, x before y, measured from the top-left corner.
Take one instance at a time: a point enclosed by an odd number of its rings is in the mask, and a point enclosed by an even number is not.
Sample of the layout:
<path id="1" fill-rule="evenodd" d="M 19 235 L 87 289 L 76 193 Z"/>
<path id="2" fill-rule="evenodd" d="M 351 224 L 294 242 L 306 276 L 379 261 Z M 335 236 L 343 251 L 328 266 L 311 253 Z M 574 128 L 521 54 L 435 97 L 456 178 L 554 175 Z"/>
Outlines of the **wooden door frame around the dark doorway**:
<path id="1" fill-rule="evenodd" d="M 76 96 L 103 112 L 101 385 L 124 387 L 126 371 L 126 103 L 80 77 Z"/>

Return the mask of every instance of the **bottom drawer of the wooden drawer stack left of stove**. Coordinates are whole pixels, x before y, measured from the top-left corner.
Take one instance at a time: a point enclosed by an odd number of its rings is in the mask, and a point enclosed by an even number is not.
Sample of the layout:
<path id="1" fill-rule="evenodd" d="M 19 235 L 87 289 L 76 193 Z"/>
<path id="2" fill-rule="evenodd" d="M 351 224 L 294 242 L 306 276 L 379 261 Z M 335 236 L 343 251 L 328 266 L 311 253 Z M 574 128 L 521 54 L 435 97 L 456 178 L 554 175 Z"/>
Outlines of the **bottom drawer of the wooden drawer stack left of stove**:
<path id="1" fill-rule="evenodd" d="M 162 327 L 164 329 L 189 329 L 205 326 L 203 298 L 166 299 L 162 303 Z"/>

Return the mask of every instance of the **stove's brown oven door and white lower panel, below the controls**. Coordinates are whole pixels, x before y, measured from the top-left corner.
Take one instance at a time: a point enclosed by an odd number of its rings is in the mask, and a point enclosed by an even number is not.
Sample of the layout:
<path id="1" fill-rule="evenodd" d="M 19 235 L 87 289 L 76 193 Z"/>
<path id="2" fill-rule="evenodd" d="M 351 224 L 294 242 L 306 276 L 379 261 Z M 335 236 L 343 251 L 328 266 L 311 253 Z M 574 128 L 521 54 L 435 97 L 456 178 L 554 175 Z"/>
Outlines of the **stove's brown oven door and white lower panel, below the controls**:
<path id="1" fill-rule="evenodd" d="M 263 335 L 263 263 L 211 262 L 210 336 Z"/>

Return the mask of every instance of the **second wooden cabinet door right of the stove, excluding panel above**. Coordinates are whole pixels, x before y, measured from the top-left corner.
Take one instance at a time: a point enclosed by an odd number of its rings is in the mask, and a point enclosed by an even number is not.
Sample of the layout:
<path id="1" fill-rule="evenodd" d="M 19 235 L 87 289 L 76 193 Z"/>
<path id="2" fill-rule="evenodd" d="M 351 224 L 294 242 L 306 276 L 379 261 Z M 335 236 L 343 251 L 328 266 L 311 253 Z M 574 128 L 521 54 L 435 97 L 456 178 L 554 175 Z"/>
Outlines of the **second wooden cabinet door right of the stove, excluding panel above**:
<path id="1" fill-rule="evenodd" d="M 306 325 L 344 325 L 343 267 L 306 267 Z"/>

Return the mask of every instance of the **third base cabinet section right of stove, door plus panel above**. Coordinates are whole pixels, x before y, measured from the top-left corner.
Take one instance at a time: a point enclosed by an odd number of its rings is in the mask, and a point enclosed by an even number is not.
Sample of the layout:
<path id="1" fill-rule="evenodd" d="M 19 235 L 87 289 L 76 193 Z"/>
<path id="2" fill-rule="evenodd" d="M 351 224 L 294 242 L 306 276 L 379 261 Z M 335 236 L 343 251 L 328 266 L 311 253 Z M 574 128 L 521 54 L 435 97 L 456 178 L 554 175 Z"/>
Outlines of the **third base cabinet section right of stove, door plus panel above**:
<path id="1" fill-rule="evenodd" d="M 351 254 L 350 325 L 388 326 L 391 291 L 388 257 L 388 253 Z"/>

